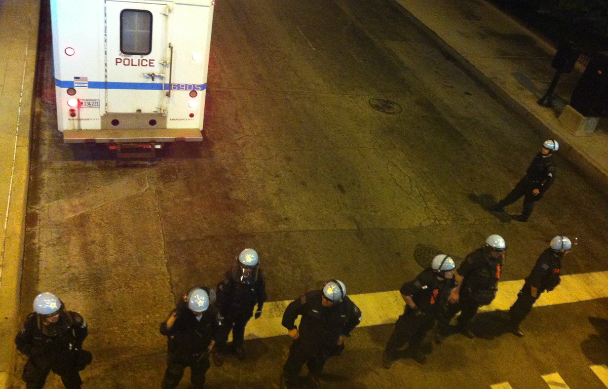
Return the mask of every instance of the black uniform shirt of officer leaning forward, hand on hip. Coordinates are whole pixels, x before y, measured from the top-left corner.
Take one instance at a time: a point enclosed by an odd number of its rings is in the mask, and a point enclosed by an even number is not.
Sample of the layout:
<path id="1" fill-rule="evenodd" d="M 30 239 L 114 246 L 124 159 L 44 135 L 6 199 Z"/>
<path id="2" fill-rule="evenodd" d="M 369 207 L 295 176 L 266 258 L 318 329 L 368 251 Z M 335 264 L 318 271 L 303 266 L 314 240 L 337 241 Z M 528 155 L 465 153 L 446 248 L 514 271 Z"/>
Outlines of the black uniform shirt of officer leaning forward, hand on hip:
<path id="1" fill-rule="evenodd" d="M 361 323 L 361 310 L 350 298 L 330 307 L 323 306 L 323 291 L 310 291 L 291 301 L 283 314 L 283 327 L 295 328 L 295 318 L 300 321 L 300 340 L 309 343 L 334 345 L 340 335 L 350 332 Z"/>

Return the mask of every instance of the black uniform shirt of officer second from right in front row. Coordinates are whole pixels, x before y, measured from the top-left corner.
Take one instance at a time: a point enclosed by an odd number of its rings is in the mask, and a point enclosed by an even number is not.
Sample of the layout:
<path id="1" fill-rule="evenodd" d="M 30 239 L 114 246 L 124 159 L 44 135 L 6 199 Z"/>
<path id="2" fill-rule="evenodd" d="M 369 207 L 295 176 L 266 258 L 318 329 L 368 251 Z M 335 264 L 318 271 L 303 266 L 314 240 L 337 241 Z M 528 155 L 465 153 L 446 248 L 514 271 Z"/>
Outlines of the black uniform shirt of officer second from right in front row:
<path id="1" fill-rule="evenodd" d="M 503 263 L 503 256 L 489 261 L 485 258 L 483 249 L 477 249 L 466 256 L 457 271 L 458 275 L 465 278 L 463 286 L 472 291 L 497 289 Z"/>

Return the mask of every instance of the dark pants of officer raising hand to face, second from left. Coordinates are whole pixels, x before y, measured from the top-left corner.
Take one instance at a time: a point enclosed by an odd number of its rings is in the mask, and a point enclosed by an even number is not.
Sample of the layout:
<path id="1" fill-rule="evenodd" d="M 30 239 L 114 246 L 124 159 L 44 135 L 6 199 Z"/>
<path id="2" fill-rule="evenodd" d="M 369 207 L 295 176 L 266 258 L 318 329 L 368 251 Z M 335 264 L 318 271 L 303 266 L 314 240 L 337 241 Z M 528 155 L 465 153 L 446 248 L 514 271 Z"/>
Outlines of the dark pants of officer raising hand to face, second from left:
<path id="1" fill-rule="evenodd" d="M 204 351 L 199 356 L 182 356 L 169 353 L 167 356 L 167 371 L 162 380 L 162 389 L 174 389 L 184 376 L 184 369 L 190 368 L 190 382 L 195 389 L 204 388 L 205 376 L 210 367 L 209 353 Z"/>

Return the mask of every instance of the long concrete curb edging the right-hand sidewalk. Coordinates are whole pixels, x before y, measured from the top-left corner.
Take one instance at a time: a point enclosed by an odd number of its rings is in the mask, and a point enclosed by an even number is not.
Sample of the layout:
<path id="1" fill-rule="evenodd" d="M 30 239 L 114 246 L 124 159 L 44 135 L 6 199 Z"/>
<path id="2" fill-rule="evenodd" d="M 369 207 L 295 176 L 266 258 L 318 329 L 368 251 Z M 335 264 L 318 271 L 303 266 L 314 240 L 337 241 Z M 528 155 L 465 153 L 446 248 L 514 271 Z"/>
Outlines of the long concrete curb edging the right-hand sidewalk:
<path id="1" fill-rule="evenodd" d="M 401 4 L 399 4 L 401 5 Z M 599 190 L 604 195 L 608 196 L 608 172 L 602 170 L 601 167 L 596 166 L 592 160 L 590 160 L 584 152 L 572 145 L 568 140 L 564 139 L 560 134 L 556 133 L 553 128 L 547 123 L 544 123 L 541 119 L 536 117 L 532 112 L 528 111 L 525 106 L 522 105 L 516 98 L 511 96 L 505 89 L 501 88 L 499 84 L 495 83 L 491 78 L 484 74 L 480 69 L 469 62 L 463 55 L 461 55 L 452 46 L 446 43 L 441 36 L 437 35 L 434 30 L 430 29 L 420 19 L 416 18 L 409 10 L 401 5 L 404 14 L 410 21 L 415 24 L 418 29 L 424 32 L 430 39 L 432 39 L 444 53 L 449 57 L 454 58 L 461 69 L 466 74 L 478 81 L 490 94 L 496 96 L 503 102 L 508 108 L 522 115 L 522 117 L 530 123 L 530 125 L 536 129 L 539 133 L 543 134 L 549 139 L 556 139 L 560 143 L 559 154 L 567 159 L 572 165 L 576 167 L 584 176 L 586 176 L 589 184 Z M 502 11 L 501 11 L 502 12 Z M 548 43 L 542 41 L 542 44 L 546 46 Z M 552 50 L 555 50 L 552 48 Z"/>

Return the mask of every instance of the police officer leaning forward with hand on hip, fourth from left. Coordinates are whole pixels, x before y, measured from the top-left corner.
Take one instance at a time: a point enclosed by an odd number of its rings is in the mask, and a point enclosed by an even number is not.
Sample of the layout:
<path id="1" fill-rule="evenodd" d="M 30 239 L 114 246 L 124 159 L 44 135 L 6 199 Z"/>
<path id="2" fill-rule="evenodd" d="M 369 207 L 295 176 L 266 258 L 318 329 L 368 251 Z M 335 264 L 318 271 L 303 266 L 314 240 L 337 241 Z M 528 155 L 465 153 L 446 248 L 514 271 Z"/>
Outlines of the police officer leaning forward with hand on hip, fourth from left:
<path id="1" fill-rule="evenodd" d="M 302 315 L 300 328 L 295 318 Z M 361 323 L 361 311 L 346 295 L 342 281 L 329 280 L 322 290 L 310 291 L 289 303 L 283 314 L 282 325 L 294 342 L 281 375 L 281 389 L 288 388 L 300 374 L 304 363 L 308 379 L 315 389 L 320 388 L 319 374 L 328 357 L 344 350 L 344 337 Z"/>

